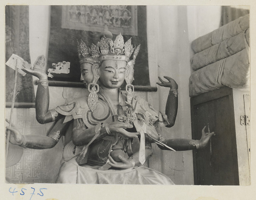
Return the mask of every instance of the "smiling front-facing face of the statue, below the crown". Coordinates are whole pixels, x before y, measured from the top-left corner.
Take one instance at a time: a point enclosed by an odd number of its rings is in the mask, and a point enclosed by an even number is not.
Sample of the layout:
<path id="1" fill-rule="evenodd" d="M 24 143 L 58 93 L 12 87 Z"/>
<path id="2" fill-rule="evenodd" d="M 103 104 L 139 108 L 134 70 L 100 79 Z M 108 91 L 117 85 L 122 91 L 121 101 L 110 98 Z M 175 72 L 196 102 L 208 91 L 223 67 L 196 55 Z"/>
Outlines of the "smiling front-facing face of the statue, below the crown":
<path id="1" fill-rule="evenodd" d="M 103 87 L 121 87 L 125 80 L 126 61 L 105 60 L 99 67 L 99 81 Z"/>

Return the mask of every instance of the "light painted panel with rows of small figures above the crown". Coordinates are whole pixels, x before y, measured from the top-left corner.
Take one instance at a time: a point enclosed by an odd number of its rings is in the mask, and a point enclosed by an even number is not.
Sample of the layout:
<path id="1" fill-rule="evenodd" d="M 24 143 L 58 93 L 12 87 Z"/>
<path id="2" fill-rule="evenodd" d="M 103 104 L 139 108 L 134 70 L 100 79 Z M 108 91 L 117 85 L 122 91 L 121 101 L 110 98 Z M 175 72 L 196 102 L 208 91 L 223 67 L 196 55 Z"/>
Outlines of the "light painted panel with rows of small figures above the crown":
<path id="1" fill-rule="evenodd" d="M 138 35 L 137 6 L 62 6 L 61 28 Z"/>

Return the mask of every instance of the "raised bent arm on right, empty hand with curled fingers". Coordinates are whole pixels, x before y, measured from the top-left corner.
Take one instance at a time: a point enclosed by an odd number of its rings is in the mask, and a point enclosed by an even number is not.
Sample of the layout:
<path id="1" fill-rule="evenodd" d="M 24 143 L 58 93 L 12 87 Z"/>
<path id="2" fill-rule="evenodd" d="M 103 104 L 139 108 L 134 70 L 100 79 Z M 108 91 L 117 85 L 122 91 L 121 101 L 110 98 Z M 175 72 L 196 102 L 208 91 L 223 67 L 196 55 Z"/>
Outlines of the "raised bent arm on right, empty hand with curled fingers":
<path id="1" fill-rule="evenodd" d="M 170 128 L 174 126 L 176 116 L 177 116 L 177 110 L 178 110 L 178 85 L 175 82 L 174 79 L 164 76 L 168 81 L 163 81 L 162 78 L 158 77 L 161 83 L 157 83 L 158 85 L 162 87 L 169 87 L 169 95 L 166 101 L 166 115 L 168 117 L 169 125 L 166 125 L 166 127 Z"/>

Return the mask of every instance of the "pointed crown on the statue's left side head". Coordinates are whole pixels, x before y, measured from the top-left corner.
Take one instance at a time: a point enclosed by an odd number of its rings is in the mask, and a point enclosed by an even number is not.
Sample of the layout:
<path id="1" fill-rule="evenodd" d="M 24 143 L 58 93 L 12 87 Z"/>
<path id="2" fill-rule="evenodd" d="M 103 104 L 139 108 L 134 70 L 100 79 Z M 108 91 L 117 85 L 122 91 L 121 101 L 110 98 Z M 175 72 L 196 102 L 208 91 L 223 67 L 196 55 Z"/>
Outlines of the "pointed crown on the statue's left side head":
<path id="1" fill-rule="evenodd" d="M 99 62 L 97 59 L 99 58 L 98 47 L 95 44 L 91 44 L 90 47 L 87 47 L 86 44 L 80 40 L 77 41 L 77 52 L 79 57 L 80 64 L 88 62 L 90 64 L 94 64 Z"/>

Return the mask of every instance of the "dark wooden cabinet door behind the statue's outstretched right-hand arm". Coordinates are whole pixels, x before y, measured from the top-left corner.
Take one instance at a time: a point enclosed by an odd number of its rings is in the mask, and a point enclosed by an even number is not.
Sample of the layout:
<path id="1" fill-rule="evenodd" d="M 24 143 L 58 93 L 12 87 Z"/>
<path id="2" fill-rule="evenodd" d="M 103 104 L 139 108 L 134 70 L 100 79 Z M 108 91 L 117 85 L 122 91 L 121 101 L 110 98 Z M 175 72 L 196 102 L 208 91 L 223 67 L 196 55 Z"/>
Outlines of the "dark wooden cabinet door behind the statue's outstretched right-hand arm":
<path id="1" fill-rule="evenodd" d="M 192 138 L 208 124 L 214 131 L 205 149 L 193 151 L 195 185 L 239 185 L 232 89 L 223 87 L 191 98 Z"/>

